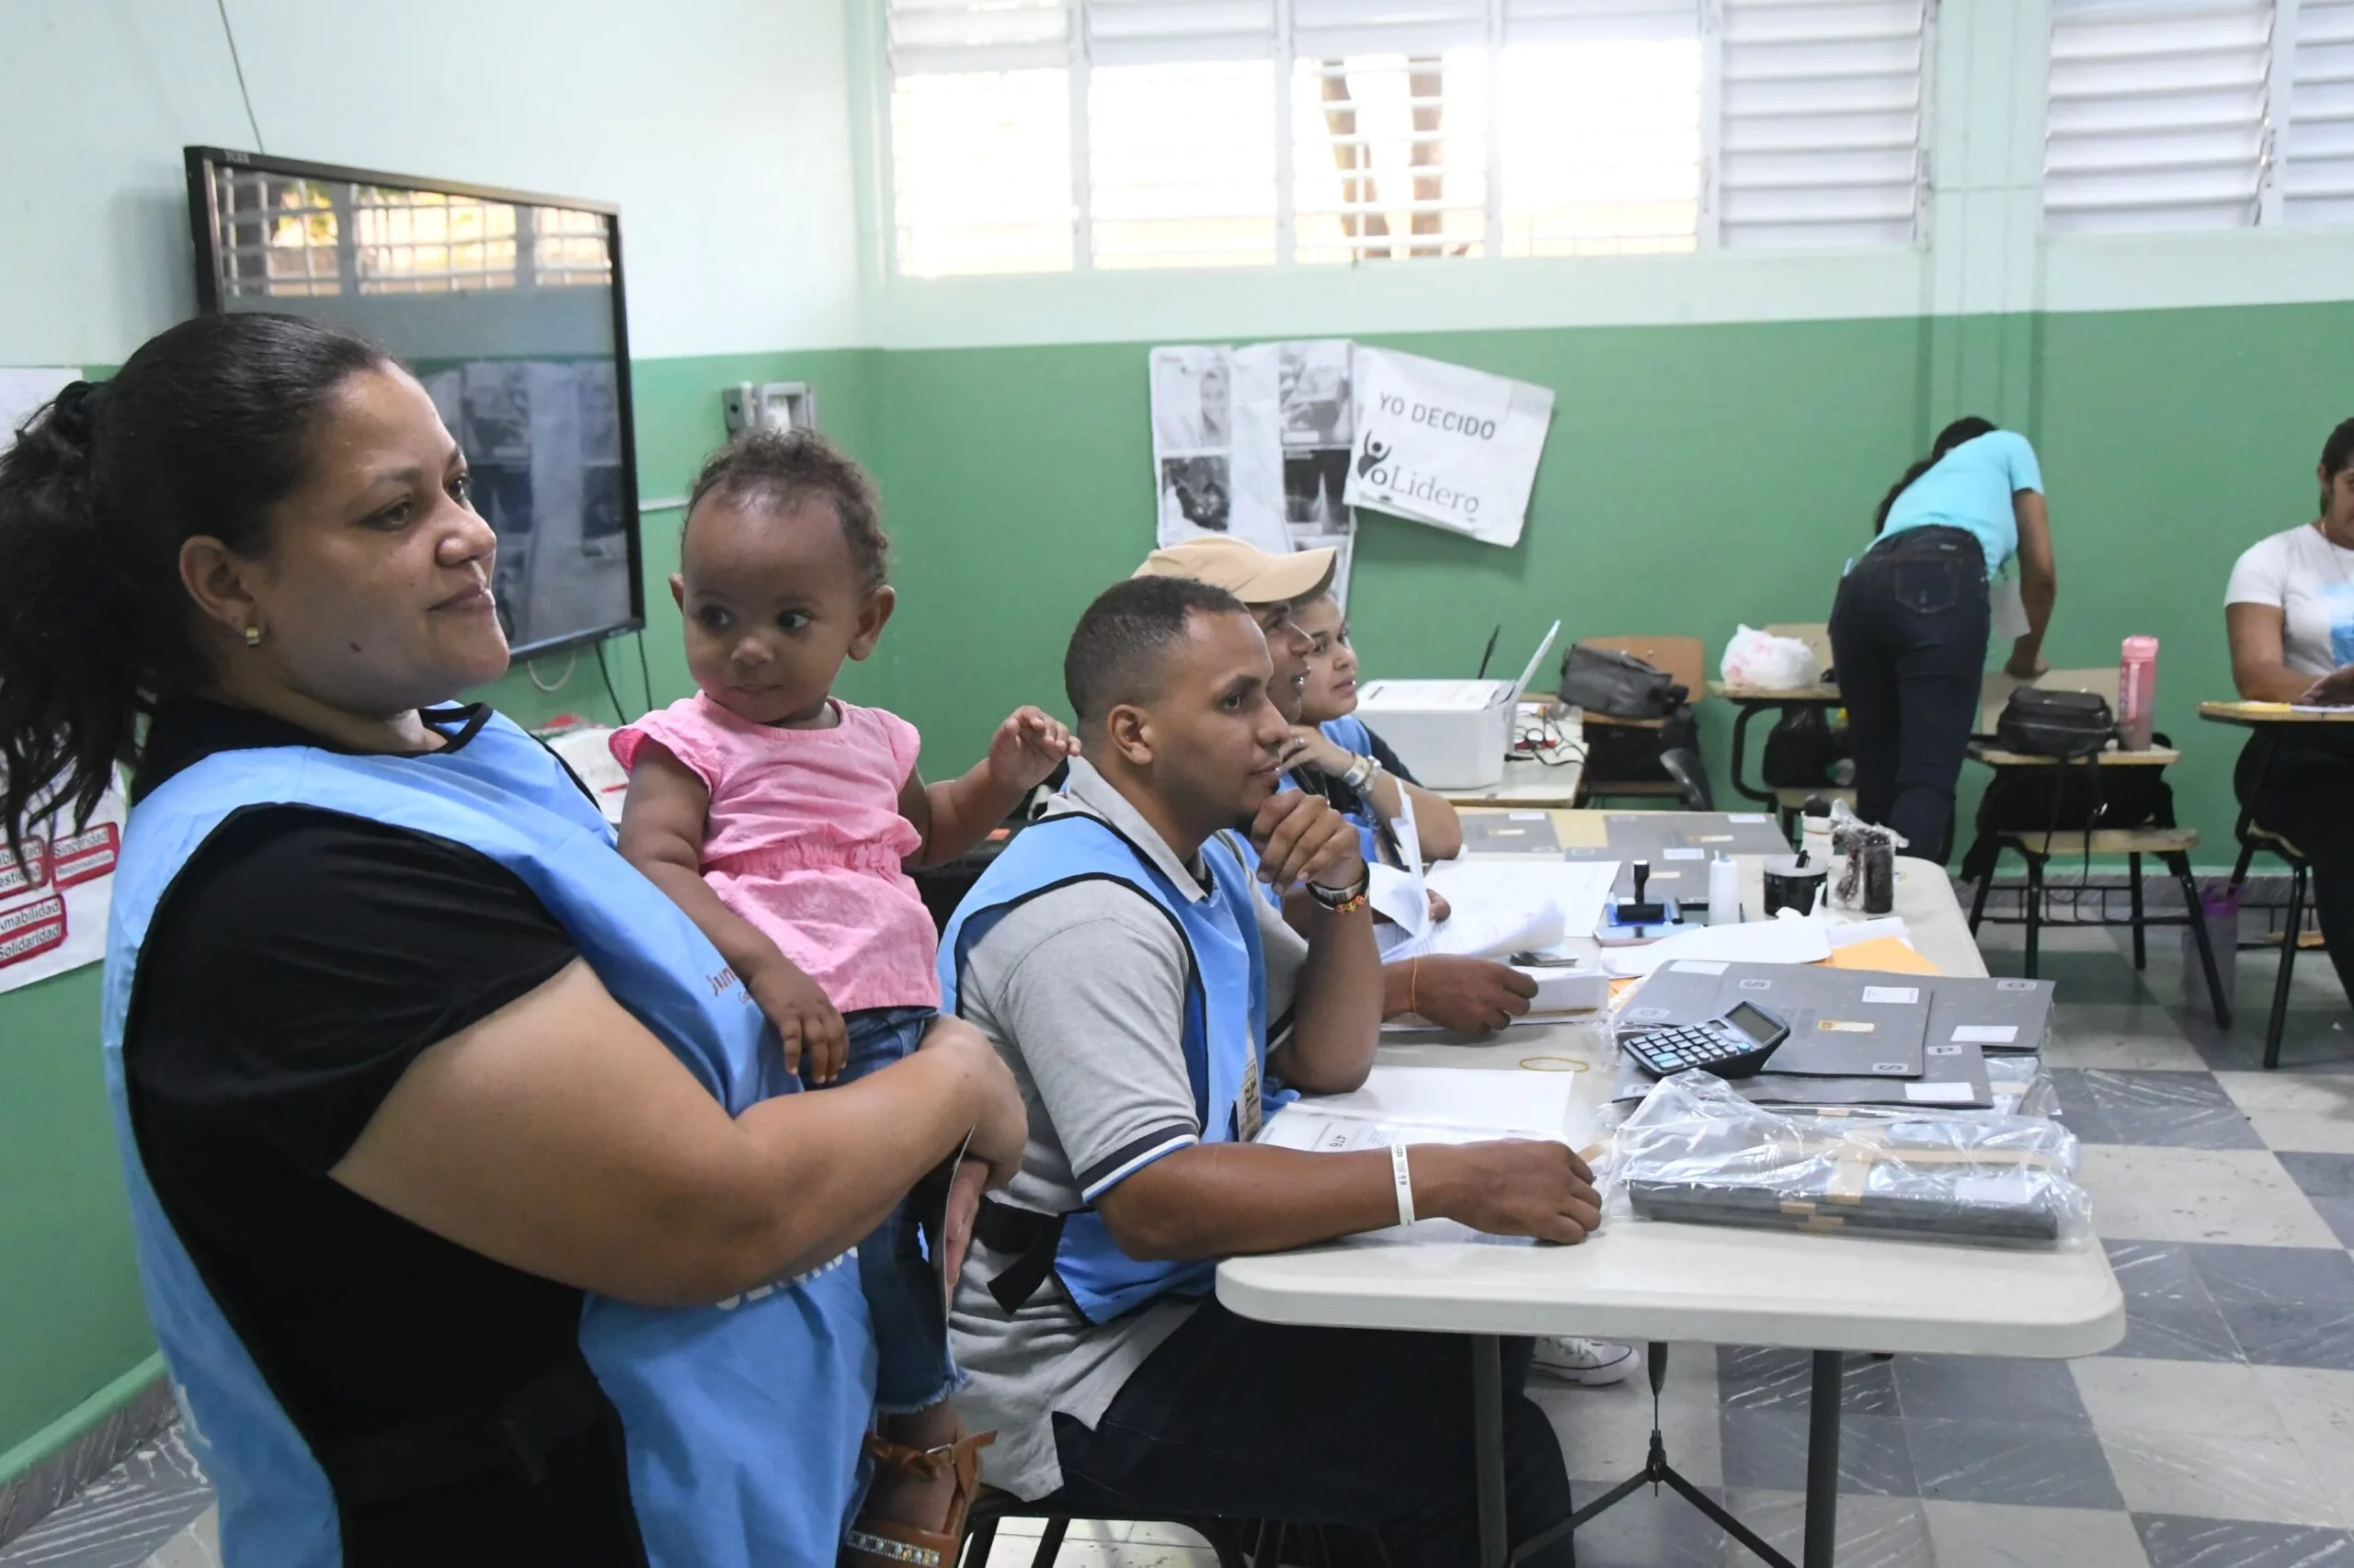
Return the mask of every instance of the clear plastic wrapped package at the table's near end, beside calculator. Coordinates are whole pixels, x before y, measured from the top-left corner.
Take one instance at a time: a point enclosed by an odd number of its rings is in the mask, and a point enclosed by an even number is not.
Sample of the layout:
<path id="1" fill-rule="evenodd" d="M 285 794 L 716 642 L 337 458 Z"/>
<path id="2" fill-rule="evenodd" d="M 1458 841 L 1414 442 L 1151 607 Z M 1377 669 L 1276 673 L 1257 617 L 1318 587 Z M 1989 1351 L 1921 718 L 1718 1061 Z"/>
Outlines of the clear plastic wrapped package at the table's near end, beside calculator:
<path id="1" fill-rule="evenodd" d="M 2076 1137 L 2039 1116 L 1780 1116 L 1709 1074 L 1676 1074 L 1617 1132 L 1620 1217 L 1909 1236 L 1968 1245 L 2083 1245 L 2093 1205 Z"/>

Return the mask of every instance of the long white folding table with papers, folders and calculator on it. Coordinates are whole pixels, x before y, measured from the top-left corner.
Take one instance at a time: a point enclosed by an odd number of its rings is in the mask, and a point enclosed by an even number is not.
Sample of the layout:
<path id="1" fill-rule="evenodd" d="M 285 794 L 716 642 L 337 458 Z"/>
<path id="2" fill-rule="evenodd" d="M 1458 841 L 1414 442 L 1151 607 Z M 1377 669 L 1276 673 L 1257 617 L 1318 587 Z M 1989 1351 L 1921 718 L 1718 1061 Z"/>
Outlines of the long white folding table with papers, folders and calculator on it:
<path id="1" fill-rule="evenodd" d="M 1756 864 L 1744 866 L 1756 890 Z M 1942 866 L 1897 862 L 1897 913 L 1914 946 L 1949 975 L 1984 975 Z M 1596 1024 L 1509 1029 L 1485 1045 L 1384 1045 L 1382 1062 L 1464 1071 L 1561 1071 L 1584 1062 L 1577 1123 L 1598 1125 L 1615 1081 Z M 1806 1568 L 1831 1568 L 1838 1521 L 1838 1389 L 1848 1351 L 1935 1356 L 2093 1356 L 2126 1333 L 2126 1304 L 2097 1243 L 1996 1250 L 1886 1238 L 1801 1236 L 1690 1224 L 1605 1224 L 1575 1248 L 1335 1243 L 1231 1257 L 1217 1297 L 1248 1318 L 1332 1328 L 1471 1335 L 1481 1563 L 1516 1561 L 1504 1535 L 1504 1335 L 1589 1335 L 1622 1342 L 1775 1344 L 1813 1351 L 1806 1464 Z M 1575 1528 L 1645 1483 L 1667 1483 L 1758 1556 L 1773 1552 L 1667 1467 L 1653 1431 L 1650 1464 L 1582 1507 Z M 1549 1544 L 1523 1542 L 1518 1556 Z"/>

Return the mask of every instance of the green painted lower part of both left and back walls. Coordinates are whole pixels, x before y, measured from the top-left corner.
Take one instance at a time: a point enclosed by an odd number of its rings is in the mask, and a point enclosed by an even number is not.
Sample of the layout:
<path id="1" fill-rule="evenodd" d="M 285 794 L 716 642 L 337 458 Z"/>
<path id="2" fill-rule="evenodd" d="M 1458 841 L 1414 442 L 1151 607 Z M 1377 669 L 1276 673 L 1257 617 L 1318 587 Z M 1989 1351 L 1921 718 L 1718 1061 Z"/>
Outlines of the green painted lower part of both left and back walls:
<path id="1" fill-rule="evenodd" d="M 1690 633 L 1711 659 L 1737 622 L 1810 622 L 1869 537 L 1888 480 L 1959 412 L 2034 436 L 2060 542 L 2055 664 L 2107 664 L 2156 633 L 2161 727 L 2187 749 L 2182 819 L 2222 862 L 2234 739 L 2192 718 L 2229 692 L 2222 582 L 2248 542 L 2312 516 L 2314 454 L 2354 412 L 2328 346 L 2354 306 L 1989 315 L 1791 325 L 1584 327 L 1379 337 L 1556 388 L 1521 546 L 1368 518 L 1356 624 L 1375 671 L 1467 671 L 1495 622 L 1525 657 L 1565 636 Z M 680 494 L 720 440 L 718 393 L 807 379 L 826 431 L 883 483 L 899 617 L 852 699 L 965 768 L 1022 702 L 1062 706 L 1080 605 L 1151 539 L 1144 344 L 760 353 L 636 367 L 640 490 Z M 654 699 L 687 690 L 664 577 L 678 513 L 647 518 Z M 636 713 L 638 652 L 607 645 Z M 563 659 L 539 664 L 544 680 Z M 523 671 L 487 692 L 525 723 L 612 702 L 584 655 L 556 692 Z M 1723 772 L 1730 716 L 1709 704 Z M 97 972 L 0 996 L 0 1476 L 151 1354 L 97 1059 Z M 59 1424 L 68 1422 L 68 1424 Z"/>

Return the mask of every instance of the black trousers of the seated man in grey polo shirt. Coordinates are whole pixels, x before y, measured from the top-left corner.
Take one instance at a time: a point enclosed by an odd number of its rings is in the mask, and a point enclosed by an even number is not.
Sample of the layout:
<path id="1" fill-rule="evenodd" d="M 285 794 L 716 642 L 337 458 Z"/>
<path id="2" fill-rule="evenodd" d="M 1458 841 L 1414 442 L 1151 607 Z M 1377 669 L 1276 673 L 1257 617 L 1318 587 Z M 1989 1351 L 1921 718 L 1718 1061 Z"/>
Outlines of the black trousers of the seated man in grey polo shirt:
<path id="1" fill-rule="evenodd" d="M 1514 1542 L 1570 1516 L 1544 1410 L 1521 1387 L 1528 1342 L 1504 1342 L 1504 1507 Z M 1050 1502 L 1111 1516 L 1215 1514 L 1356 1526 L 1394 1568 L 1478 1563 L 1471 1340 L 1257 1323 L 1208 1300 L 1104 1410 L 1055 1417 L 1064 1488 Z M 1535 1559 L 1570 1568 L 1563 1540 Z"/>

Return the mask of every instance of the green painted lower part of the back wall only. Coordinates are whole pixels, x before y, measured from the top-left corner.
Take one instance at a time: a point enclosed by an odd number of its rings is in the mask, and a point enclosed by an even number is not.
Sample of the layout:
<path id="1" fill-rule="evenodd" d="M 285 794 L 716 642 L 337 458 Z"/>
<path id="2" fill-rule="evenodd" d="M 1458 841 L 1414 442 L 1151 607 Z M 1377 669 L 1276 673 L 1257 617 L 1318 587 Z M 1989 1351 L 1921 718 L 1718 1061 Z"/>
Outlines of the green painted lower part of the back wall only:
<path id="1" fill-rule="evenodd" d="M 1824 619 L 1888 483 L 1937 424 L 1984 412 L 2043 454 L 2050 659 L 2100 666 L 2128 633 L 2161 638 L 2180 815 L 2225 864 L 2236 737 L 2192 709 L 2229 695 L 2234 556 L 2312 516 L 2321 438 L 2354 412 L 2328 353 L 2349 327 L 2354 306 L 2330 304 L 1370 337 L 1558 403 L 1516 549 L 1365 518 L 1358 647 L 1377 673 L 1455 673 L 1492 624 L 1502 664 L 1558 614 L 1563 638 L 1700 636 L 1714 669 L 1740 622 Z M 1017 702 L 1059 706 L 1078 607 L 1149 546 L 1144 344 L 880 353 L 873 398 L 899 542 L 887 647 L 937 768 Z M 1730 713 L 1702 720 L 1728 796 Z"/>

